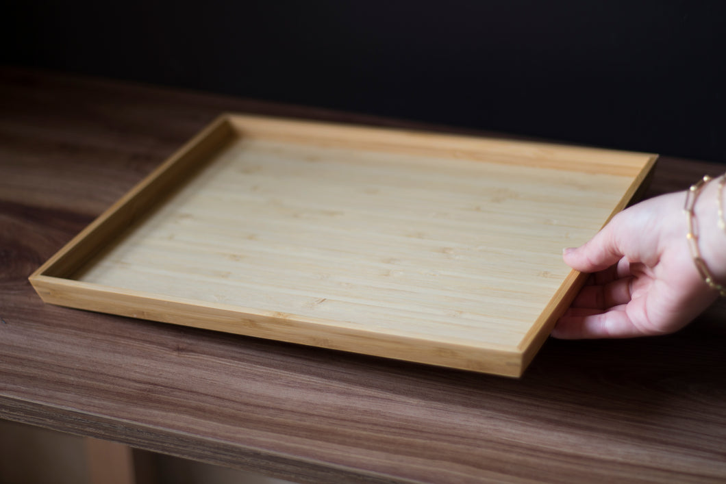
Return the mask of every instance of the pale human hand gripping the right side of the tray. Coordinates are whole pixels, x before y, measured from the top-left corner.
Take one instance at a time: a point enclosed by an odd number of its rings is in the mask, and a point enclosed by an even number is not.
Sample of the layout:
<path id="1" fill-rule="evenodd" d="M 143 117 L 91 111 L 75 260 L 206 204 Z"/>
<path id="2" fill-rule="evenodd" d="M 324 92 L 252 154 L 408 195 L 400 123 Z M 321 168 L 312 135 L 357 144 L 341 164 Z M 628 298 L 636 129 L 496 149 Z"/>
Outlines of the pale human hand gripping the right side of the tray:
<path id="1" fill-rule="evenodd" d="M 726 279 L 726 234 L 717 226 L 716 189 L 696 204 L 699 247 L 717 280 Z M 566 249 L 565 262 L 592 273 L 553 337 L 661 335 L 685 327 L 718 297 L 698 273 L 683 211 L 685 192 L 656 197 L 617 214 L 590 242 Z"/>

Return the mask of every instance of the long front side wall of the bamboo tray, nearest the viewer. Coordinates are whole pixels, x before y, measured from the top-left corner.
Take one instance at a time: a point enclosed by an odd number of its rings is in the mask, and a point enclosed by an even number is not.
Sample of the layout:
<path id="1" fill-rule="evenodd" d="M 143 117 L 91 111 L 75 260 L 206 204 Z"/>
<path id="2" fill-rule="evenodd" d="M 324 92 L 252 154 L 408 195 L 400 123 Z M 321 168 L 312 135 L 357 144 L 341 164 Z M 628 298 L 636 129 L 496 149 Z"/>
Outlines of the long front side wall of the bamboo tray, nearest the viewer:
<path id="1" fill-rule="evenodd" d="M 57 277 L 36 276 L 34 287 L 46 303 L 87 311 L 507 377 L 520 377 L 524 369 L 522 355 L 517 350 L 417 340 L 304 321 L 285 313 L 245 313 L 224 305 L 136 295 Z"/>

